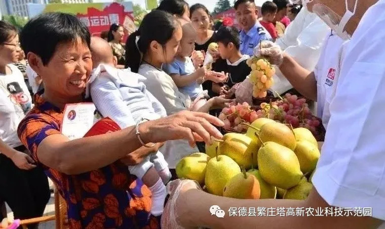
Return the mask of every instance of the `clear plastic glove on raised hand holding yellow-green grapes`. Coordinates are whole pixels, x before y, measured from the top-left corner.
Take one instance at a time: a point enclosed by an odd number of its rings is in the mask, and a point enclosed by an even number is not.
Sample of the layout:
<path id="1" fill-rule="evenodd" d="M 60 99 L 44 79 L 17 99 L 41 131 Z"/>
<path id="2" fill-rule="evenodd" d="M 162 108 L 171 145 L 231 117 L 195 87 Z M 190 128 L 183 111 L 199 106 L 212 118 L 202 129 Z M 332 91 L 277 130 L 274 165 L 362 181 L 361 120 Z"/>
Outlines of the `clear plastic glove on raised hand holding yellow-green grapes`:
<path id="1" fill-rule="evenodd" d="M 255 57 L 266 57 L 271 64 L 280 66 L 283 62 L 283 51 L 278 44 L 263 40 L 254 48 Z"/>

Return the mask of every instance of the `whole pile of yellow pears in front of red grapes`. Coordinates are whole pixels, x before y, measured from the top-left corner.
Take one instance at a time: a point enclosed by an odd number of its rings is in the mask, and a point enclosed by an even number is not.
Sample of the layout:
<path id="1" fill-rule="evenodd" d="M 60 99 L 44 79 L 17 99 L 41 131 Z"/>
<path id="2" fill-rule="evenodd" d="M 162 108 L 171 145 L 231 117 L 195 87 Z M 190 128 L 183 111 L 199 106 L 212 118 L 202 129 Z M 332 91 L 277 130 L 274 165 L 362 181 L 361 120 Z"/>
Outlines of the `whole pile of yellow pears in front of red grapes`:
<path id="1" fill-rule="evenodd" d="M 182 158 L 176 174 L 217 196 L 304 200 L 313 188 L 306 175 L 314 172 L 319 157 L 310 130 L 259 118 L 246 134 L 226 133 L 206 145 L 206 154 Z"/>

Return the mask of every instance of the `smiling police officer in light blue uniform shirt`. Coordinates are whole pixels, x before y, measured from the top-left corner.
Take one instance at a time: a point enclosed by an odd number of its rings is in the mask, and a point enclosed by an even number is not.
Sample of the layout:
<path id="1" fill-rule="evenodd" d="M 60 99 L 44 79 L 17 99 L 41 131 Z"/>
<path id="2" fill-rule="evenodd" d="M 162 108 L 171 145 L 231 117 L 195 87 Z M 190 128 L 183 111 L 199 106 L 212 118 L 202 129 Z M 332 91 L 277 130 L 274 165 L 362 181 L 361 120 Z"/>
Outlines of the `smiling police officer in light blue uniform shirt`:
<path id="1" fill-rule="evenodd" d="M 272 36 L 259 23 L 254 0 L 238 0 L 234 8 L 238 23 L 242 27 L 240 51 L 243 55 L 253 56 L 253 50 L 259 41 L 272 40 Z"/>

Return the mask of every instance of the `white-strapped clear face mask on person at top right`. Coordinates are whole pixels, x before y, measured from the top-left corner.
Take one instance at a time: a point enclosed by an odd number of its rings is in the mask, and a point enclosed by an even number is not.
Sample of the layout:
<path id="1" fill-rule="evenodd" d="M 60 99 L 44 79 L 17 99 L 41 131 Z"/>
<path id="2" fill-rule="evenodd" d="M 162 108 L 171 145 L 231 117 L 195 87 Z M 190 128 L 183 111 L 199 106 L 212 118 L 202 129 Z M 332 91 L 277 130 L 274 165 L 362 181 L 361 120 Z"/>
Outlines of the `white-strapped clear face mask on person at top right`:
<path id="1" fill-rule="evenodd" d="M 349 34 L 345 30 L 345 26 L 356 13 L 357 3 L 358 0 L 356 0 L 354 10 L 352 12 L 348 9 L 348 0 L 345 0 L 346 12 L 342 18 L 338 16 L 338 14 L 336 14 L 333 10 L 323 4 L 314 5 L 313 13 L 317 14 L 333 31 L 336 32 L 339 37 L 344 40 L 348 40 L 351 38 L 351 34 Z"/>

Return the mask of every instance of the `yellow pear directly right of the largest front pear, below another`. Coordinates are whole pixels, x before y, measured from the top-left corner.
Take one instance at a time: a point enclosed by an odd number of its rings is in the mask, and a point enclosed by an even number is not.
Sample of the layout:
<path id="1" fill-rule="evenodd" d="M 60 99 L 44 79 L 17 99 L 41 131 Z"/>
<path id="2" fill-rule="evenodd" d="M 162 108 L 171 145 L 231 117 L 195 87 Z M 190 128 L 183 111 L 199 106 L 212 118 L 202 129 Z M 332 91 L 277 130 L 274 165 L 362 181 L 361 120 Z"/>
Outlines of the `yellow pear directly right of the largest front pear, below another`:
<path id="1" fill-rule="evenodd" d="M 312 172 L 316 169 L 321 154 L 318 147 L 313 143 L 304 140 L 297 142 L 294 153 L 297 155 L 303 173 Z"/>

